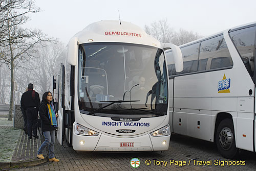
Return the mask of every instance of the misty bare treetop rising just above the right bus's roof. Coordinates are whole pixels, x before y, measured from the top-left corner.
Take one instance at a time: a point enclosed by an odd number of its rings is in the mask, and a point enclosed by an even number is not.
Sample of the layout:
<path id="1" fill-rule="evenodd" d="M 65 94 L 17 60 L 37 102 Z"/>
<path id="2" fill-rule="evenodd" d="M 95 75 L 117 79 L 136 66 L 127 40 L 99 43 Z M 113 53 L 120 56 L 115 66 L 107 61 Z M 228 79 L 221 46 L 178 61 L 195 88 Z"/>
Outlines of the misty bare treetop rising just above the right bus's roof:
<path id="1" fill-rule="evenodd" d="M 198 33 L 194 33 L 192 31 L 188 32 L 184 29 L 180 29 L 178 33 L 175 34 L 175 36 L 172 39 L 172 43 L 176 45 L 182 45 L 185 43 L 188 43 L 190 41 L 197 40 L 201 38 L 202 36 Z"/>

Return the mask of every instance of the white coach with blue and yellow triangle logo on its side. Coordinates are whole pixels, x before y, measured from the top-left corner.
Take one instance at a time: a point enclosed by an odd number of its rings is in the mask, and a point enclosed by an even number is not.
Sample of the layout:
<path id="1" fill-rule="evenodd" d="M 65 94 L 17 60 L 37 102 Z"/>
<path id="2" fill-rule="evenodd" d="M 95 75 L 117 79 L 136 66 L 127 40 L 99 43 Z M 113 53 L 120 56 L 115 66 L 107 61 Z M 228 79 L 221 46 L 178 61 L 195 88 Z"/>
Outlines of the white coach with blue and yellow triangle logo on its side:
<path id="1" fill-rule="evenodd" d="M 180 46 L 184 69 L 166 52 L 171 132 L 216 142 L 233 158 L 255 152 L 255 22 Z"/>

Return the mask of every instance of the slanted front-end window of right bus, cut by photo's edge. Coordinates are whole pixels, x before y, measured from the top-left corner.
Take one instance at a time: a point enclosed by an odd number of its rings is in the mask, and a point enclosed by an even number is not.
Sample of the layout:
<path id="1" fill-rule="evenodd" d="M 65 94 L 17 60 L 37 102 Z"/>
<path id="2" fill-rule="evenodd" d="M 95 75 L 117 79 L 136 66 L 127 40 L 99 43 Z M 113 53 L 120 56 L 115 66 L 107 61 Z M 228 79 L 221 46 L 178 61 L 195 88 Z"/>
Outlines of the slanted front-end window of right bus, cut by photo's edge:
<path id="1" fill-rule="evenodd" d="M 251 77 L 254 71 L 255 27 L 229 33 Z"/>

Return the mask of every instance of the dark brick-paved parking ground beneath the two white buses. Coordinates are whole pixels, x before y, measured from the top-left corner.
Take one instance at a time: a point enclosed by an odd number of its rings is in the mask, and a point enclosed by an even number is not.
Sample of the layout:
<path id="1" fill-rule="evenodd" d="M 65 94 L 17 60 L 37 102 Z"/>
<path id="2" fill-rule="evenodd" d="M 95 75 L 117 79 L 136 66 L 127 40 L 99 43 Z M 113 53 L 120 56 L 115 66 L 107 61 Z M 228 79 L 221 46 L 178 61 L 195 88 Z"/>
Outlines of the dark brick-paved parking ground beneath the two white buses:
<path id="1" fill-rule="evenodd" d="M 252 152 L 241 151 L 236 160 L 227 160 L 220 156 L 214 143 L 180 135 L 172 135 L 169 150 L 163 153 L 75 152 L 58 144 L 55 152 L 58 163 L 15 170 L 256 170 L 256 155 Z M 132 158 L 140 160 L 137 168 L 131 166 Z M 236 165 L 225 165 L 228 163 Z"/>

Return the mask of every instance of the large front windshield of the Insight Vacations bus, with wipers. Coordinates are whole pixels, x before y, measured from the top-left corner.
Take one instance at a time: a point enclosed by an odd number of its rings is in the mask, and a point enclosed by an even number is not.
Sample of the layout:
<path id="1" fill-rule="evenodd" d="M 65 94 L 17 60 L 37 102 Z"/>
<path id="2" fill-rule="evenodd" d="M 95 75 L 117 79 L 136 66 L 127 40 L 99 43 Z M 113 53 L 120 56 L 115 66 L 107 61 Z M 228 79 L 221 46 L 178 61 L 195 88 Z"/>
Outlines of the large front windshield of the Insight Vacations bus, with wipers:
<path id="1" fill-rule="evenodd" d="M 166 115 L 168 78 L 163 50 L 130 43 L 85 43 L 79 45 L 78 55 L 81 113 L 102 108 L 97 115 Z"/>

